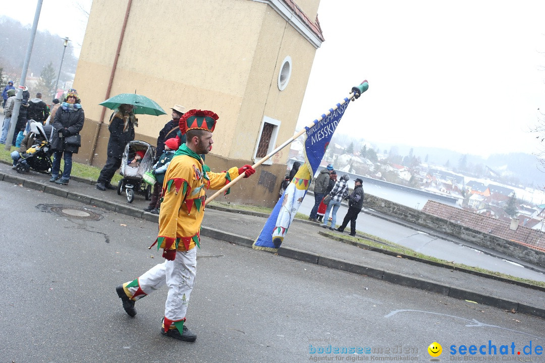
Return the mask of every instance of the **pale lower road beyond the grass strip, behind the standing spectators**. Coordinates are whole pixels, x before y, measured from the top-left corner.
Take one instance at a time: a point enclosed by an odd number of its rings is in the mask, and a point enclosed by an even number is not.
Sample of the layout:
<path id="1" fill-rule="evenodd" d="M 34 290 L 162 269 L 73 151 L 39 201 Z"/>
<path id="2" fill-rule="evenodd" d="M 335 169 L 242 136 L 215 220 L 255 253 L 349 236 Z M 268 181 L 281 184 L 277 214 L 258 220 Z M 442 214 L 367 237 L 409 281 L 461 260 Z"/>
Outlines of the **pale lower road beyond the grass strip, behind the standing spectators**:
<path id="1" fill-rule="evenodd" d="M 299 212 L 310 214 L 314 205 L 314 195 L 310 194 L 303 199 Z M 341 205 L 337 211 L 337 223 L 342 224 L 348 208 Z M 545 281 L 545 274 L 535 270 L 525 268 L 516 263 L 509 257 L 498 257 L 490 253 L 497 254 L 494 251 L 486 251 L 481 247 L 472 246 L 470 243 L 459 241 L 452 242 L 437 236 L 429 235 L 421 230 L 414 230 L 403 225 L 392 223 L 389 220 L 374 217 L 365 213 L 366 209 L 360 212 L 356 220 L 356 229 L 373 236 L 377 236 L 387 241 L 401 244 L 424 255 L 437 257 L 446 261 L 463 263 L 467 266 L 485 268 L 490 271 L 501 272 L 511 276 L 531 279 L 535 281 Z M 345 231 L 350 230 L 350 225 Z M 543 270 L 543 268 L 541 268 Z"/>

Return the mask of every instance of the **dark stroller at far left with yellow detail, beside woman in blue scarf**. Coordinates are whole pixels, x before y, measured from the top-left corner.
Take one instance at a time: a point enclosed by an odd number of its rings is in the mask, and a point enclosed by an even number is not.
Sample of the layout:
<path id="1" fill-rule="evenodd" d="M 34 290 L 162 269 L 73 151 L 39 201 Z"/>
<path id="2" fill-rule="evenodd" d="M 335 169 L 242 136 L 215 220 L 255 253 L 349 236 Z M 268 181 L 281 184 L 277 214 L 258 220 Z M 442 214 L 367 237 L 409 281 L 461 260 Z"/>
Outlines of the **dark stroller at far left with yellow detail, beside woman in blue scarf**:
<path id="1" fill-rule="evenodd" d="M 52 136 L 52 126 L 42 126 L 40 122 L 31 120 L 31 132 L 23 138 L 19 150 L 11 153 L 13 169 L 17 173 L 28 173 L 30 168 L 40 173 L 50 173 Z"/>

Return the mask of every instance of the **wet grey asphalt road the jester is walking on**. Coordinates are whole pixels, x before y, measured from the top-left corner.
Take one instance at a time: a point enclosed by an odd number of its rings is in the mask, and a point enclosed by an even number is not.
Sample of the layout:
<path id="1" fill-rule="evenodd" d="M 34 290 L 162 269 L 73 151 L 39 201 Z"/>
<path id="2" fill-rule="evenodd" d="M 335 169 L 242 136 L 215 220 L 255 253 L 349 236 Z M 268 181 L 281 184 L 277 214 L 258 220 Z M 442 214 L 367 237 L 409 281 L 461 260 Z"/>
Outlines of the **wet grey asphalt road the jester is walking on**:
<path id="1" fill-rule="evenodd" d="M 488 358 L 516 360 L 530 341 L 545 345 L 540 318 L 206 237 L 186 323 L 198 338 L 180 342 L 159 333 L 166 289 L 139 300 L 135 318 L 114 292 L 163 261 L 147 249 L 156 223 L 7 182 L 0 215 L 0 362 L 428 361 L 435 341 L 452 360 L 464 356 L 451 345 L 489 340 L 516 349 Z M 370 353 L 311 353 L 329 344 Z"/>

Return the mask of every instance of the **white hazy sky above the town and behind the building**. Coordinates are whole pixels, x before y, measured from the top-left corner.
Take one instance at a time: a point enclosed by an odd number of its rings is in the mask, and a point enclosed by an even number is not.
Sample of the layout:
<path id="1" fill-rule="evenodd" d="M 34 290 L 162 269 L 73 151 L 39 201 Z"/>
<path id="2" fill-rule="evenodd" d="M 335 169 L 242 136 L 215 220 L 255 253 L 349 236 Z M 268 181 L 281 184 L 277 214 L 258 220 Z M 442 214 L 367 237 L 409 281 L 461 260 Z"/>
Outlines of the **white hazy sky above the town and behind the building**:
<path id="1" fill-rule="evenodd" d="M 3 2 L 0 15 L 32 23 L 36 3 Z M 80 47 L 86 18 L 78 4 L 90 9 L 90 0 L 44 0 L 38 28 Z M 299 126 L 367 79 L 338 132 L 481 156 L 537 152 L 528 130 L 537 108 L 545 110 L 543 14 L 541 0 L 322 0 L 326 41 Z"/>

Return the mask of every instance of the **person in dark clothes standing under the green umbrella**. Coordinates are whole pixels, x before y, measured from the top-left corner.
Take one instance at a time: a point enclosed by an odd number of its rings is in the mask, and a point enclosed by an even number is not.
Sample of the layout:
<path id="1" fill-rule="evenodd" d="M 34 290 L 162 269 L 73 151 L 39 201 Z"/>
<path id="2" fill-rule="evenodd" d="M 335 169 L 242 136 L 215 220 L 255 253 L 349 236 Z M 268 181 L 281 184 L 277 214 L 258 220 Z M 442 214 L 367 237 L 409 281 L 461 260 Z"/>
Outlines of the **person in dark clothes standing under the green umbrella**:
<path id="1" fill-rule="evenodd" d="M 121 166 L 125 145 L 135 139 L 135 126 L 138 125 L 138 119 L 132 113 L 133 108 L 132 104 L 123 103 L 119 106 L 117 112 L 110 116 L 108 157 L 106 165 L 100 171 L 99 179 L 96 181 L 96 189 L 117 189 L 111 183 L 112 177 Z"/>

